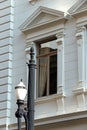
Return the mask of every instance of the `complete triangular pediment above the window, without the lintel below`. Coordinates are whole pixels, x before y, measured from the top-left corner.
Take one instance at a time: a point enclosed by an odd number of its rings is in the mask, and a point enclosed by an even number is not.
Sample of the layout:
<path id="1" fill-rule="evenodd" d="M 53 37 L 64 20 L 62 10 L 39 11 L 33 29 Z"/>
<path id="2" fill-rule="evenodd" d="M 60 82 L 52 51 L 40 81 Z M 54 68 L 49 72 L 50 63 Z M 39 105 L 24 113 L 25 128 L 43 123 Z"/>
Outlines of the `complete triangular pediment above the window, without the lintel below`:
<path id="1" fill-rule="evenodd" d="M 59 21 L 64 18 L 64 12 L 40 6 L 25 22 L 20 26 L 22 32 L 32 30 L 49 23 Z"/>

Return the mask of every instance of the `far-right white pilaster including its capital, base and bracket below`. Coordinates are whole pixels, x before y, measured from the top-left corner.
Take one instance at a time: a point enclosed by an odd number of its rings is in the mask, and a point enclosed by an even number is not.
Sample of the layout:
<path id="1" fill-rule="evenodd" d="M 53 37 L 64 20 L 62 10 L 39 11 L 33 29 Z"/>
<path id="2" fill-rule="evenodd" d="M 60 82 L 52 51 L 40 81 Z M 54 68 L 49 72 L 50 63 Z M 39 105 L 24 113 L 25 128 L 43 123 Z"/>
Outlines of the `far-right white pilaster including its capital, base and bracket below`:
<path id="1" fill-rule="evenodd" d="M 83 110 L 86 106 L 86 61 L 85 61 L 85 27 L 77 28 L 77 56 L 78 56 L 78 84 L 73 91 L 77 98 L 77 110 Z"/>

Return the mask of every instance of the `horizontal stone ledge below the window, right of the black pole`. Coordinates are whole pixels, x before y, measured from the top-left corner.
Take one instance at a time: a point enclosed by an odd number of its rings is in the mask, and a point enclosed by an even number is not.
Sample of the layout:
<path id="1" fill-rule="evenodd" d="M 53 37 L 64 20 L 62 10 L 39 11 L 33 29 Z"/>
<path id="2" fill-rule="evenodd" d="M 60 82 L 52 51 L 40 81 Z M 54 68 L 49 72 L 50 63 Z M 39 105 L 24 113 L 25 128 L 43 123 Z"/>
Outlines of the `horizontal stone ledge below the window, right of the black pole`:
<path id="1" fill-rule="evenodd" d="M 56 123 L 74 121 L 74 120 L 85 119 L 85 118 L 87 119 L 87 111 L 67 113 L 67 114 L 57 115 L 48 118 L 36 119 L 35 126 L 56 124 Z"/>

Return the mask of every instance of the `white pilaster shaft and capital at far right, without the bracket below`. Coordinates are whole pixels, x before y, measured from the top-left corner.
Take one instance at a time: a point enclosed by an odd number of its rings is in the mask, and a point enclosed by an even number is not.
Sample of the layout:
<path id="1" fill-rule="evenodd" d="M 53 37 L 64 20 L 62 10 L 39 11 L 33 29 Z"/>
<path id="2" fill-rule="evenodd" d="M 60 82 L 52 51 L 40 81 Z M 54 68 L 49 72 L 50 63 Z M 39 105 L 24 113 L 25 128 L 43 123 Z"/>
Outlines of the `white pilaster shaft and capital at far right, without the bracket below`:
<path id="1" fill-rule="evenodd" d="M 84 31 L 84 30 L 83 30 Z M 78 86 L 85 86 L 85 66 L 84 66 L 84 32 L 76 34 L 77 50 L 78 50 Z"/>

